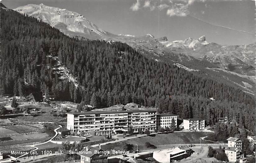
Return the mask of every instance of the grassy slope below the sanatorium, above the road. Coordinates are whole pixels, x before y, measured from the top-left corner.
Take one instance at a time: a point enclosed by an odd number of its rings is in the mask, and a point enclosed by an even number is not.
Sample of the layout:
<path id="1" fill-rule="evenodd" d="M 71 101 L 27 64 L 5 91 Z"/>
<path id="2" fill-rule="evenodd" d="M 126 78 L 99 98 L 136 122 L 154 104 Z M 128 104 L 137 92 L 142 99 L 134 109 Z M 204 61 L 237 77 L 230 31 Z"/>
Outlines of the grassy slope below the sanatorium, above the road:
<path id="1" fill-rule="evenodd" d="M 126 140 L 128 144 L 132 144 L 133 149 L 137 148 L 135 144 L 138 144 L 139 150 L 146 150 L 149 148 L 145 147 L 145 143 L 149 142 L 153 145 L 164 145 L 164 144 L 197 144 L 200 143 L 200 137 L 209 135 L 208 132 L 174 132 L 169 134 L 158 134 L 154 137 L 146 136 L 141 138 L 135 138 L 131 140 Z M 203 142 L 202 143 L 209 143 Z M 122 150 L 123 142 L 118 142 L 114 144 L 103 145 L 102 149 L 116 149 Z"/>

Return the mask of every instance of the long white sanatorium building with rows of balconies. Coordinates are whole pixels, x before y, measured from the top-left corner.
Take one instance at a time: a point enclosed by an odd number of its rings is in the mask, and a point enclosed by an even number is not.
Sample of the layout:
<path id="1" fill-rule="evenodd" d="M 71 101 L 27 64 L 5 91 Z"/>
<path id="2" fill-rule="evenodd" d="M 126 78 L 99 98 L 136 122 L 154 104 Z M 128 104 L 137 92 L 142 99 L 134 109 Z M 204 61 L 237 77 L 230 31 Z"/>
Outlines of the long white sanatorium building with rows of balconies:
<path id="1" fill-rule="evenodd" d="M 88 111 L 67 113 L 67 129 L 83 132 L 84 135 L 121 134 L 132 126 L 134 132 L 139 130 L 154 131 L 157 127 L 157 111 Z"/>

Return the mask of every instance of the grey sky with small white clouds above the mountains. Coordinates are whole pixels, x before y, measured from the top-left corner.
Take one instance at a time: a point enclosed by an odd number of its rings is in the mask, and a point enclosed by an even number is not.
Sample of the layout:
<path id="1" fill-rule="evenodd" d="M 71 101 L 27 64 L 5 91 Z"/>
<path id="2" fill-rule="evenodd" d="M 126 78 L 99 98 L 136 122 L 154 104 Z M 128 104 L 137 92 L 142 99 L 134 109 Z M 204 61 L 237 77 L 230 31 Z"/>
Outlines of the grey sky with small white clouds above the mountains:
<path id="1" fill-rule="evenodd" d="M 198 39 L 222 45 L 256 42 L 255 1 L 250 0 L 2 0 L 14 9 L 43 3 L 84 15 L 99 28 L 113 34 L 169 41 Z"/>

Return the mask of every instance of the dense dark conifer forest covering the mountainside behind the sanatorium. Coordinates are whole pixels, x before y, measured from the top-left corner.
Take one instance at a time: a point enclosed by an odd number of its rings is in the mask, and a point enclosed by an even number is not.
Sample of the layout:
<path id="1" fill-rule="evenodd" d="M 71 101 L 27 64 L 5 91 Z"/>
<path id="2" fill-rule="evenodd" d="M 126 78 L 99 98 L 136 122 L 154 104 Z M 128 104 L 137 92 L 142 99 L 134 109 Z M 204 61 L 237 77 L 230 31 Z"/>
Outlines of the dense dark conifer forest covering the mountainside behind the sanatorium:
<path id="1" fill-rule="evenodd" d="M 156 62 L 121 42 L 70 38 L 16 11 L 1 9 L 0 59 L 1 94 L 98 108 L 135 102 L 209 125 L 227 116 L 254 130 L 255 97 L 240 88 Z M 76 81 L 56 73 L 60 63 Z"/>

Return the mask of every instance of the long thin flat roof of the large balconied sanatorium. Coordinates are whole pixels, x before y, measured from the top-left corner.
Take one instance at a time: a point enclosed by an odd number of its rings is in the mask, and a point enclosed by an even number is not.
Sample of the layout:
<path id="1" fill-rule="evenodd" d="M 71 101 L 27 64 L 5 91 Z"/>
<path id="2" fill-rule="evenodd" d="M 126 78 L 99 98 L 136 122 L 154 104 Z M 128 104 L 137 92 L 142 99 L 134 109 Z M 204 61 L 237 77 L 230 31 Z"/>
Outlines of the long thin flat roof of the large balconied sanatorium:
<path id="1" fill-rule="evenodd" d="M 120 111 L 87 111 L 87 112 L 76 112 L 76 113 L 67 113 L 73 115 L 80 114 L 108 114 L 108 113 L 139 113 L 139 112 L 157 112 L 157 110 L 120 110 Z"/>

